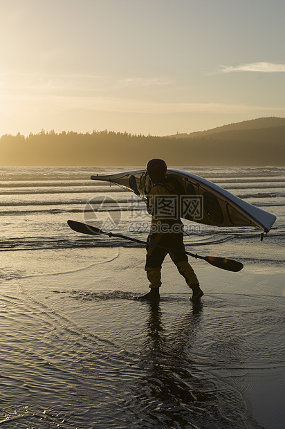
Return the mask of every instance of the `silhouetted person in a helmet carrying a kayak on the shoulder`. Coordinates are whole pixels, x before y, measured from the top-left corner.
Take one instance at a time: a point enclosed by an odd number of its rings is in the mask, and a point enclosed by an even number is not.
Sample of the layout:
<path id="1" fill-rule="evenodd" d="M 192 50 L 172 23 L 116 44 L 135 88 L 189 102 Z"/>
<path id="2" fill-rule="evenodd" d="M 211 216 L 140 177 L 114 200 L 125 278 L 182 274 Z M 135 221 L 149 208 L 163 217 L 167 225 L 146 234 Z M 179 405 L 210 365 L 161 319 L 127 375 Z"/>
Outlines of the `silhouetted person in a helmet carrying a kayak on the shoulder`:
<path id="1" fill-rule="evenodd" d="M 183 250 L 183 223 L 179 213 L 179 195 L 174 179 L 165 176 L 167 165 L 162 159 L 151 159 L 147 163 L 147 173 L 152 186 L 147 195 L 147 210 L 151 214 L 151 231 L 147 239 L 147 258 L 145 271 L 149 280 L 150 292 L 139 297 L 143 300 L 159 300 L 161 286 L 161 266 L 167 253 L 185 277 L 192 289 L 191 301 L 203 296 L 199 281 L 188 263 Z M 161 247 L 160 247 L 161 246 Z M 165 247 L 165 248 L 163 248 Z M 167 250 L 174 249 L 174 250 Z M 178 250 L 178 251 L 175 251 Z M 182 250 L 182 251 L 181 251 Z"/>

